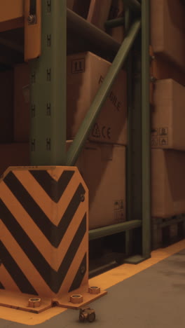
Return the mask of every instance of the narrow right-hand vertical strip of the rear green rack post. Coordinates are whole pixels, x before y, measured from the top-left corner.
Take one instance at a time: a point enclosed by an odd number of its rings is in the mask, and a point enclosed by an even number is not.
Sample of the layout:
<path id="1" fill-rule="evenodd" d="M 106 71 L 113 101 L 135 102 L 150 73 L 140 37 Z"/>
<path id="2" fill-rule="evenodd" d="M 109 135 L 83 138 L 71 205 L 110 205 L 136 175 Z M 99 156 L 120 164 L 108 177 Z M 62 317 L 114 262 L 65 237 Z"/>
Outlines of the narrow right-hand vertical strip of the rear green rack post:
<path id="1" fill-rule="evenodd" d="M 149 0 L 142 1 L 142 252 L 151 254 L 151 117 L 149 104 Z"/>

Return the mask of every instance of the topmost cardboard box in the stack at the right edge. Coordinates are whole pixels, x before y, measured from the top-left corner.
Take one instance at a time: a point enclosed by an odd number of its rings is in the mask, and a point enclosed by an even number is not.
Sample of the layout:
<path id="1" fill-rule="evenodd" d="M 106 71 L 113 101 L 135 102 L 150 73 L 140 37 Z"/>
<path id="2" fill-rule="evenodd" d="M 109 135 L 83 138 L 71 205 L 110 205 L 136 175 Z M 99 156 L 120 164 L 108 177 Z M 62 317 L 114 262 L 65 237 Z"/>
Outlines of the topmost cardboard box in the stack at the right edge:
<path id="1" fill-rule="evenodd" d="M 185 6 L 179 0 L 151 0 L 151 46 L 185 71 Z"/>

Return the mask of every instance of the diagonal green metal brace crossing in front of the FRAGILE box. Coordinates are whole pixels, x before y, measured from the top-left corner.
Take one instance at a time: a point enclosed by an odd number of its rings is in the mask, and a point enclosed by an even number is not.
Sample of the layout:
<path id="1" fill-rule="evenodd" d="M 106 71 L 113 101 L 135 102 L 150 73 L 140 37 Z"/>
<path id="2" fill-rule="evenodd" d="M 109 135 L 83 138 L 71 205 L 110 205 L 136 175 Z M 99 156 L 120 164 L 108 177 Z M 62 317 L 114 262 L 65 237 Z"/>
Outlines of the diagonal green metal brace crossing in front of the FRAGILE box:
<path id="1" fill-rule="evenodd" d="M 93 104 L 90 106 L 88 113 L 86 114 L 83 123 L 81 123 L 81 127 L 79 128 L 74 142 L 72 142 L 69 151 L 67 152 L 67 165 L 75 165 L 76 160 L 83 148 L 83 144 L 85 144 L 86 139 L 90 133 L 91 128 L 93 128 L 93 124 L 100 113 L 102 105 L 107 99 L 107 95 L 109 94 L 109 90 L 114 83 L 118 72 L 121 67 L 123 67 L 123 63 L 125 62 L 126 57 L 128 56 L 129 50 L 132 47 L 132 43 L 135 41 L 135 37 L 140 29 L 140 21 L 137 20 L 132 27 L 130 28 L 130 32 L 128 36 L 125 37 L 121 48 L 118 50 L 118 53 L 114 59 L 114 62 L 111 64 L 111 67 L 107 73 L 107 76 L 104 78 L 102 86 L 97 92 Z"/>

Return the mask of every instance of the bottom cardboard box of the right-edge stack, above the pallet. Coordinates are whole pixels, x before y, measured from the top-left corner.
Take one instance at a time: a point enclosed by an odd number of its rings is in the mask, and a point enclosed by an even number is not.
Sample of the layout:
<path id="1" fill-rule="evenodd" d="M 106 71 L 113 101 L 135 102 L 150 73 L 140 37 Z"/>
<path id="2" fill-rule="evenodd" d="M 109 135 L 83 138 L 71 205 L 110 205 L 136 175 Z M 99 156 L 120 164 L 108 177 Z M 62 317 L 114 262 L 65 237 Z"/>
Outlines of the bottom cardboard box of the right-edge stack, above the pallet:
<path id="1" fill-rule="evenodd" d="M 185 212 L 185 152 L 151 150 L 151 215 L 172 217 Z"/>

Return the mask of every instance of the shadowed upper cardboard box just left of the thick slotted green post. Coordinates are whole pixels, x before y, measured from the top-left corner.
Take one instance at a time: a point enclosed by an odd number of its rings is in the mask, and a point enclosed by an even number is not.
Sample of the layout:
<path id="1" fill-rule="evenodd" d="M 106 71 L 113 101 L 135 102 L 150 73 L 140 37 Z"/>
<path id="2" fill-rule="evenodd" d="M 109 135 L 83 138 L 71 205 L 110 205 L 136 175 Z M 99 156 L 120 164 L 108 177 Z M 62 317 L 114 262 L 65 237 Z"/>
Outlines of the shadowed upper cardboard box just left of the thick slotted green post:
<path id="1" fill-rule="evenodd" d="M 29 141 L 29 102 L 24 97 L 24 87 L 29 85 L 28 64 L 14 68 L 14 141 Z"/>

